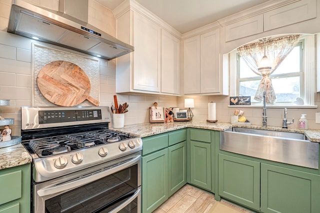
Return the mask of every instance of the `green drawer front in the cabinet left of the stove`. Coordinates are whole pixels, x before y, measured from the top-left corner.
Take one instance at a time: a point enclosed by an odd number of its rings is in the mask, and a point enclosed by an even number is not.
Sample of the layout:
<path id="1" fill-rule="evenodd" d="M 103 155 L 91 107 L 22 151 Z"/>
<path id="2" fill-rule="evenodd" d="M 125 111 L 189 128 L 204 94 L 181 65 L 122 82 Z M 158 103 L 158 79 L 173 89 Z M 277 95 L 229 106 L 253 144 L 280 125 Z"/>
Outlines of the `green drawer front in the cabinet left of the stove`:
<path id="1" fill-rule="evenodd" d="M 21 197 L 22 171 L 16 170 L 0 174 L 0 204 Z"/>

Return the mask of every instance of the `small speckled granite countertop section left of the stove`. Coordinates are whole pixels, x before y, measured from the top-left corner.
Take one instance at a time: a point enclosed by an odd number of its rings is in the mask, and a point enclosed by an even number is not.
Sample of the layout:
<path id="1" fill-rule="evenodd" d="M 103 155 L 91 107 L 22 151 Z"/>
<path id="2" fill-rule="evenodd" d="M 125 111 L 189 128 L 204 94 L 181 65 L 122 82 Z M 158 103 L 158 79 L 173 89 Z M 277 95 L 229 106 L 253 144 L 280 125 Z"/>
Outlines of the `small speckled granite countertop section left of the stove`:
<path id="1" fill-rule="evenodd" d="M 21 143 L 0 148 L 0 169 L 30 163 L 32 157 Z"/>

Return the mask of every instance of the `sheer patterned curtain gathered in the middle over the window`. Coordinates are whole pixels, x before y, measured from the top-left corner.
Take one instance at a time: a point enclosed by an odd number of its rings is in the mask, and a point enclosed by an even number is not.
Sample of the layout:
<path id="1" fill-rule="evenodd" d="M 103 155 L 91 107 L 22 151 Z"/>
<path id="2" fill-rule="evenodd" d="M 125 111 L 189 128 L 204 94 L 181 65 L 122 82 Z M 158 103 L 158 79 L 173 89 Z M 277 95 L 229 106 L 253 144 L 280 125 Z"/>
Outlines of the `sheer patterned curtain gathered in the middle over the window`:
<path id="1" fill-rule="evenodd" d="M 265 91 L 265 102 L 268 104 L 273 104 L 275 102 L 276 95 L 272 86 L 270 74 L 294 48 L 299 40 L 299 36 L 300 35 L 296 34 L 274 39 L 264 39 L 237 48 L 240 56 L 247 63 L 249 68 L 257 75 L 262 76 L 254 96 L 255 100 L 261 101 L 263 99 L 263 91 Z M 259 63 L 264 53 L 270 61 L 271 69 L 262 69 L 262 71 L 258 71 Z"/>

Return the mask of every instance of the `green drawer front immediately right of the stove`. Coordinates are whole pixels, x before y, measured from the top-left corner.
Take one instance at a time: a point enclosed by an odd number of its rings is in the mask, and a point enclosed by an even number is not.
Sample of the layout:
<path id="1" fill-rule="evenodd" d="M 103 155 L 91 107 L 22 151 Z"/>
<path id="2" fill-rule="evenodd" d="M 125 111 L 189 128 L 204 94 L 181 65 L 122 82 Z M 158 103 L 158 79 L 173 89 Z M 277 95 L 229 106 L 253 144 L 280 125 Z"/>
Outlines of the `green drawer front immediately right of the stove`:
<path id="1" fill-rule="evenodd" d="M 168 146 L 168 134 L 158 134 L 142 138 L 142 155 L 160 150 Z"/>

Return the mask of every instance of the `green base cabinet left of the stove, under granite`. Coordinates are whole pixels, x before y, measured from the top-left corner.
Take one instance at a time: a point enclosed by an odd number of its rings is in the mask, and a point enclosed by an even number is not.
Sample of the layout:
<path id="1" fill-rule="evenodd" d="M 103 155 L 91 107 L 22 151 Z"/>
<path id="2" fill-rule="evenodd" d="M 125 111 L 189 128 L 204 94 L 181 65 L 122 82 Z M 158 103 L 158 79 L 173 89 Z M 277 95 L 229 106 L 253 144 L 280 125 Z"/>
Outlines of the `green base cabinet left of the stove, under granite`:
<path id="1" fill-rule="evenodd" d="M 30 163 L 0 170 L 0 213 L 30 212 Z"/>

